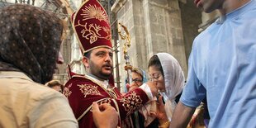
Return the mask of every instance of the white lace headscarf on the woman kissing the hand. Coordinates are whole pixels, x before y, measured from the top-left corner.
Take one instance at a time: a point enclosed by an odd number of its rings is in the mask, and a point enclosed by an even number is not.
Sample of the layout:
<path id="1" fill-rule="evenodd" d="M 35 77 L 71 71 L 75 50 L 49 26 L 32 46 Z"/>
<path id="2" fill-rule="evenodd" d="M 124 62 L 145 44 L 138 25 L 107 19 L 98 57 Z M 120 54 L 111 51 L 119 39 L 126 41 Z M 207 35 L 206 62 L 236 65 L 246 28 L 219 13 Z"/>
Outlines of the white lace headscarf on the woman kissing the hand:
<path id="1" fill-rule="evenodd" d="M 168 53 L 158 53 L 162 69 L 164 71 L 164 85 L 165 91 L 160 92 L 164 97 L 165 111 L 169 121 L 173 115 L 173 110 L 177 103 L 175 102 L 175 97 L 183 91 L 185 78 L 183 69 L 179 65 L 177 59 Z"/>

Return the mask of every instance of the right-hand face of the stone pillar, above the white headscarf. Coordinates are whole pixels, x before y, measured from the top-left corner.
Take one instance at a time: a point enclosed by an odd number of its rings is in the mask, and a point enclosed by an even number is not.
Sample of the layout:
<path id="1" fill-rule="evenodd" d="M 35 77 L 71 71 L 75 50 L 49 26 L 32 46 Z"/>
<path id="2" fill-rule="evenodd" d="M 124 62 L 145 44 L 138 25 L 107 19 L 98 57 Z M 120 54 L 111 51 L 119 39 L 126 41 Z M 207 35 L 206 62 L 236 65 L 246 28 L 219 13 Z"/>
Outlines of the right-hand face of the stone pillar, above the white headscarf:
<path id="1" fill-rule="evenodd" d="M 144 0 L 147 59 L 155 53 L 167 52 L 181 64 L 185 75 L 187 62 L 178 0 Z"/>

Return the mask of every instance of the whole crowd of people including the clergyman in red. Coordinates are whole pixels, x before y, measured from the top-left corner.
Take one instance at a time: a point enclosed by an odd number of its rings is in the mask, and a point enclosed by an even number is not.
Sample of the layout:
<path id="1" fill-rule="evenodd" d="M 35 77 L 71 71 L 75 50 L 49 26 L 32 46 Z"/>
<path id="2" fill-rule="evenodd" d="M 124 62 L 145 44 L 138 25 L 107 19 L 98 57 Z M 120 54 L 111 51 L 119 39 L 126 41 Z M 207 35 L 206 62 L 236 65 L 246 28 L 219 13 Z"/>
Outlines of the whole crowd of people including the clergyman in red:
<path id="1" fill-rule="evenodd" d="M 157 53 L 148 74 L 131 69 L 123 93 L 114 86 L 111 26 L 97 0 L 71 19 L 87 73 L 70 73 L 64 85 L 52 79 L 63 63 L 62 21 L 31 5 L 2 7 L 0 127 L 256 127 L 256 0 L 194 2 L 220 17 L 194 40 L 187 79 L 173 55 Z"/>

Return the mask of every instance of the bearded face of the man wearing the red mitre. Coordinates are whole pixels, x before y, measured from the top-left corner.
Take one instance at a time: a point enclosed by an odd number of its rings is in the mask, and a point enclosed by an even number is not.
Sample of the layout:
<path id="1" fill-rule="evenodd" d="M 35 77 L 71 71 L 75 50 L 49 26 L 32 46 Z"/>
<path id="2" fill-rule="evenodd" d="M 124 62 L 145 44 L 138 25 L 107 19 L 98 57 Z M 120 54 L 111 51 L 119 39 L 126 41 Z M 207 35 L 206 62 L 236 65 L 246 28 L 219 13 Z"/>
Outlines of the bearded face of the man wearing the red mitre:
<path id="1" fill-rule="evenodd" d="M 89 69 L 89 73 L 108 79 L 113 71 L 112 56 L 113 52 L 109 48 L 97 48 L 92 50 L 90 58 L 83 57 L 83 64 Z"/>

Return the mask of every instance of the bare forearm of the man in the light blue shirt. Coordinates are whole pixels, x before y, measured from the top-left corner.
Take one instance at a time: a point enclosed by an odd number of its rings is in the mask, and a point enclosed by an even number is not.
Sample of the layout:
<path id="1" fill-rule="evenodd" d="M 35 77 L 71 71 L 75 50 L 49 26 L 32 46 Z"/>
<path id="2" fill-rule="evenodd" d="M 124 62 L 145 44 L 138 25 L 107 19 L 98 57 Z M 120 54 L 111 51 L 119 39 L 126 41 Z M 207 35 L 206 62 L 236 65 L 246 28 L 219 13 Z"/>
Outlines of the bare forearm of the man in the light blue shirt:
<path id="1" fill-rule="evenodd" d="M 186 128 L 196 108 L 187 107 L 182 102 L 178 102 L 173 112 L 171 128 Z"/>

